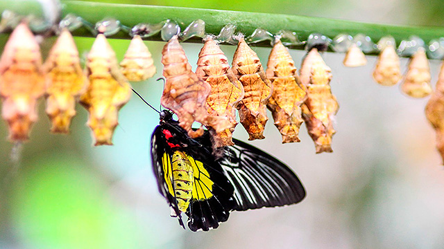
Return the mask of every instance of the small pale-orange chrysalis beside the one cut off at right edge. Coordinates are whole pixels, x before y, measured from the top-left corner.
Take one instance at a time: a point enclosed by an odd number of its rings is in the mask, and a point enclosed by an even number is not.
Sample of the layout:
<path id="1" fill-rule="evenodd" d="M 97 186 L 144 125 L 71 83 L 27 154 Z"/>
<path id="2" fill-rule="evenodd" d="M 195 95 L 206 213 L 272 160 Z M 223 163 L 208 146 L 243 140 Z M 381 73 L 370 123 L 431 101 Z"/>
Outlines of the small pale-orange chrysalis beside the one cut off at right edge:
<path id="1" fill-rule="evenodd" d="M 429 61 L 427 55 L 425 55 L 425 50 L 420 48 L 410 59 L 409 69 L 401 89 L 410 97 L 424 98 L 432 93 L 430 80 Z"/>

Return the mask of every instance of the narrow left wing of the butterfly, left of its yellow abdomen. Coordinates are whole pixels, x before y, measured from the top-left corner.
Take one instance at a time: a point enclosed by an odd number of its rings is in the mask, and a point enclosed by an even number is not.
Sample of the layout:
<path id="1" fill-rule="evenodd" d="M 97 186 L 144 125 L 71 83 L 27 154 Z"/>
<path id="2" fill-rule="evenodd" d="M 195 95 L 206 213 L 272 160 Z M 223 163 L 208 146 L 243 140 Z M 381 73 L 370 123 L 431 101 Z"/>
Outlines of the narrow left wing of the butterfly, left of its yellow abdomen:
<path id="1" fill-rule="evenodd" d="M 167 142 L 162 137 L 162 126 L 158 125 L 154 129 L 153 136 L 151 136 L 151 161 L 153 164 L 153 172 L 157 179 L 157 187 L 160 194 L 167 199 L 170 207 L 176 212 L 180 225 L 185 228 L 178 208 L 176 196 L 172 196 L 169 192 L 169 187 L 173 187 L 173 185 L 171 184 L 171 181 L 168 184 L 168 181 L 165 178 L 166 174 L 167 178 L 168 175 L 171 174 L 171 172 L 168 172 L 169 169 L 171 169 L 171 156 L 171 151 L 167 148 Z"/>

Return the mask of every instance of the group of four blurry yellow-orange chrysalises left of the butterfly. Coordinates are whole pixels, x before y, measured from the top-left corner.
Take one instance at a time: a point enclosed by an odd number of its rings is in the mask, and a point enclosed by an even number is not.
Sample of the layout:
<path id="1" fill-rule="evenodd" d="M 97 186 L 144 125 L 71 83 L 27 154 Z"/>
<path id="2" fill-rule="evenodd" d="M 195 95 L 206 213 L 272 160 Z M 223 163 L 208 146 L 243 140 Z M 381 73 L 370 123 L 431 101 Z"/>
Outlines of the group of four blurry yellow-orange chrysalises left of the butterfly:
<path id="1" fill-rule="evenodd" d="M 88 126 L 95 145 L 112 145 L 118 111 L 128 102 L 131 87 L 126 80 L 146 80 L 155 74 L 153 59 L 142 39 L 133 39 L 121 68 L 105 36 L 98 35 L 89 54 L 85 73 L 74 39 L 62 30 L 42 65 L 40 48 L 26 23 L 10 35 L 0 59 L 2 118 L 8 122 L 12 141 L 27 140 L 37 120 L 37 99 L 45 95 L 46 114 L 53 133 L 68 133 L 75 104 L 89 112 Z"/>

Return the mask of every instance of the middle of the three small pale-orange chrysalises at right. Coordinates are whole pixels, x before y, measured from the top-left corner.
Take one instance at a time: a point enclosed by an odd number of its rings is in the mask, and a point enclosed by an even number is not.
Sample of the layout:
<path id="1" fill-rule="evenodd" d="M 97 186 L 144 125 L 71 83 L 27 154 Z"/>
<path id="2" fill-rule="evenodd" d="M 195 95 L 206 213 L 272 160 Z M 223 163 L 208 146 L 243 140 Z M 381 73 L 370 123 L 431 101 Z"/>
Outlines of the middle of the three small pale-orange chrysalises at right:
<path id="1" fill-rule="evenodd" d="M 395 46 L 388 45 L 382 48 L 373 71 L 373 79 L 383 86 L 393 86 L 401 78 L 400 57 L 396 53 Z"/>

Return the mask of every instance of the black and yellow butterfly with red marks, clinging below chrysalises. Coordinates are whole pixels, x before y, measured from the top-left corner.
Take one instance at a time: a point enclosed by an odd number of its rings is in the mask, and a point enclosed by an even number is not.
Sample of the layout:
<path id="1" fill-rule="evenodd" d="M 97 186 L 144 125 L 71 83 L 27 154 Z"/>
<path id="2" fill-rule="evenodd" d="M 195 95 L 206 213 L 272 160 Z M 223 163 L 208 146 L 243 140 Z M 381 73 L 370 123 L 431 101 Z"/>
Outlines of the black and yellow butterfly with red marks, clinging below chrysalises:
<path id="1" fill-rule="evenodd" d="M 153 171 L 160 194 L 185 229 L 218 228 L 233 210 L 290 205 L 302 201 L 305 189 L 298 176 L 280 160 L 240 140 L 214 151 L 209 131 L 191 138 L 160 112 L 151 138 Z"/>

